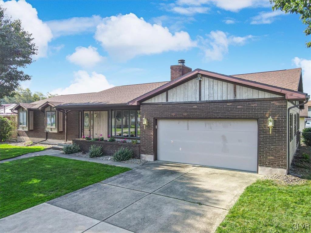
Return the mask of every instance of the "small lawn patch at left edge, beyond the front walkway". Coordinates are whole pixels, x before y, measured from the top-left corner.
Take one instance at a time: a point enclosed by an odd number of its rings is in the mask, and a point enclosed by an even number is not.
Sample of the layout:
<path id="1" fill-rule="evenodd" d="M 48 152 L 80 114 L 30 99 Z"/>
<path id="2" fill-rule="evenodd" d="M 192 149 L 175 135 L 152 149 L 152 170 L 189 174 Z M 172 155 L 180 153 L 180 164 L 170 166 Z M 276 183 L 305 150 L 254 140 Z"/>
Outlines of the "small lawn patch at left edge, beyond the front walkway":
<path id="1" fill-rule="evenodd" d="M 0 144 L 0 160 L 14 158 L 23 154 L 44 150 L 43 146 L 12 146 Z"/>

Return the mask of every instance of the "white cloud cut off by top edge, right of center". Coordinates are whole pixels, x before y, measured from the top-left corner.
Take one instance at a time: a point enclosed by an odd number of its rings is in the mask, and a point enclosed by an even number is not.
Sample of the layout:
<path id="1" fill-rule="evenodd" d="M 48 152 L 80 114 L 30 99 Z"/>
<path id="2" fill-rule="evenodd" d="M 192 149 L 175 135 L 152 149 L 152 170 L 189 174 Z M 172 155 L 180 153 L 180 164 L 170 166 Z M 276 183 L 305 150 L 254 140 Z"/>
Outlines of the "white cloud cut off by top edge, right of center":
<path id="1" fill-rule="evenodd" d="M 179 0 L 175 2 L 179 6 L 195 6 L 202 7 L 203 5 L 213 4 L 218 8 L 226 11 L 238 12 L 241 9 L 248 7 L 270 7 L 268 0 Z M 172 6 L 172 5 L 171 5 Z M 206 12 L 197 12 L 206 13 Z"/>

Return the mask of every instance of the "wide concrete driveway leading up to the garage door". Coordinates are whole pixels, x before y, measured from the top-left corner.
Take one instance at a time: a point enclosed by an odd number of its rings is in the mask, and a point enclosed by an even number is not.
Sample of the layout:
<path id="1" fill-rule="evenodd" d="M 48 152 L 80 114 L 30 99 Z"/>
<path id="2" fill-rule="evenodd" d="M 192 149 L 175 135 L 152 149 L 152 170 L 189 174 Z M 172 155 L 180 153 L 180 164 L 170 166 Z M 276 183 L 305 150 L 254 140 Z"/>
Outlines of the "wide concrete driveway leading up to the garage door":
<path id="1" fill-rule="evenodd" d="M 3 218 L 1 232 L 214 232 L 257 174 L 147 162 Z"/>

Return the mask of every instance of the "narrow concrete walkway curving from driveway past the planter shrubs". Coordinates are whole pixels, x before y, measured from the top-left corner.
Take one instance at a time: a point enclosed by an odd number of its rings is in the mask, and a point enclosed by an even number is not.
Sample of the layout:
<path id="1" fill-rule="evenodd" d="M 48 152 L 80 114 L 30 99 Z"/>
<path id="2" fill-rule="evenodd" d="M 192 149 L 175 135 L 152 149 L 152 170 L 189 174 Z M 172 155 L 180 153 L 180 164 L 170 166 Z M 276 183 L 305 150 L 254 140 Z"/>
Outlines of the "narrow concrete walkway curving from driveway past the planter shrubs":
<path id="1" fill-rule="evenodd" d="M 17 159 L 22 159 L 22 158 L 30 158 L 30 157 L 35 157 L 35 156 L 42 156 L 42 155 L 51 155 L 51 156 L 55 156 L 55 157 L 70 158 L 70 159 L 82 160 L 82 161 L 87 161 L 87 162 L 104 163 L 104 164 L 109 164 L 109 165 L 118 166 L 118 167 L 135 168 L 135 167 L 141 166 L 139 164 L 115 162 L 115 161 L 111 161 L 111 160 L 103 160 L 103 159 L 98 159 L 98 158 L 78 157 L 78 156 L 74 156 L 74 155 L 70 155 L 70 154 L 63 154 L 61 151 L 53 150 L 53 149 L 48 149 L 48 150 L 28 153 L 28 154 L 24 154 L 24 155 L 15 157 L 15 158 L 5 159 L 5 160 L 0 161 L 0 163 L 10 162 L 10 161 L 14 161 L 14 160 L 17 160 Z"/>

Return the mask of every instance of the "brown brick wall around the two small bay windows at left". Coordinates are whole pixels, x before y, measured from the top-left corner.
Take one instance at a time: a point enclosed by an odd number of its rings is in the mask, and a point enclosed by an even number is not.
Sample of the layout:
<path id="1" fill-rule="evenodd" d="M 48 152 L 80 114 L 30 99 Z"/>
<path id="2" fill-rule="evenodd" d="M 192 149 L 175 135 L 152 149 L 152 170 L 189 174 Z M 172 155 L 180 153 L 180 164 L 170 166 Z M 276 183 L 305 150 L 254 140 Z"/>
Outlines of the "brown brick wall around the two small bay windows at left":
<path id="1" fill-rule="evenodd" d="M 63 132 L 47 132 L 47 139 L 65 140 L 65 116 L 63 116 Z M 44 112 L 34 110 L 34 130 L 18 130 L 18 136 L 45 139 Z M 79 112 L 70 111 L 67 113 L 67 140 L 79 138 Z"/>

